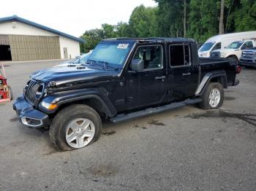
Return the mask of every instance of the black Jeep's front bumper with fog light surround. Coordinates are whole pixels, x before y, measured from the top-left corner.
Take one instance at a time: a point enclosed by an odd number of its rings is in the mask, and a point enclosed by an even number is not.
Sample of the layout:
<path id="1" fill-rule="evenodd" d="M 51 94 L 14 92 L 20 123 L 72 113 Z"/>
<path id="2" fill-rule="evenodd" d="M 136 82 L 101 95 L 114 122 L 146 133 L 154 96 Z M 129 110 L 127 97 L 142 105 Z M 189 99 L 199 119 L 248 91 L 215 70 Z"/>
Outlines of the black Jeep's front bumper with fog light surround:
<path id="1" fill-rule="evenodd" d="M 23 95 L 16 99 L 12 107 L 17 113 L 20 122 L 28 128 L 43 128 L 50 125 L 48 115 L 34 109 Z"/>

